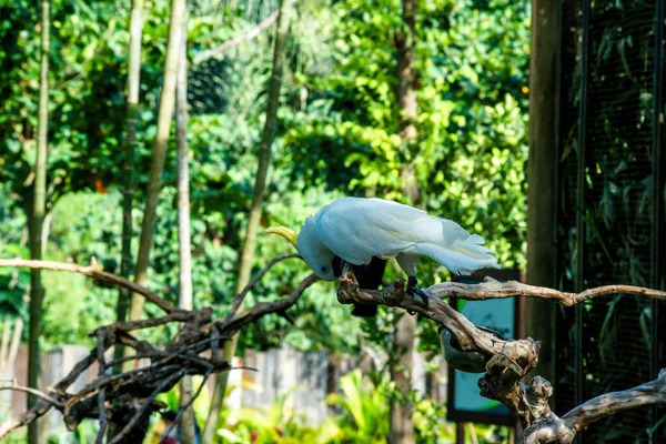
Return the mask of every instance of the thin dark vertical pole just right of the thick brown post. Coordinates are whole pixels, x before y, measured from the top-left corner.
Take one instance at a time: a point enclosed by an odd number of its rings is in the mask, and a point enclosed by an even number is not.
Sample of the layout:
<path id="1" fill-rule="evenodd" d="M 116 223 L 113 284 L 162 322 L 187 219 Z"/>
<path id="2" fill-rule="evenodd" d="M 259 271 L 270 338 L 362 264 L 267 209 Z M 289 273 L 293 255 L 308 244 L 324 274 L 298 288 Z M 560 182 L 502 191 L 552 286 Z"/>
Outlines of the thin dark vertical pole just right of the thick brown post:
<path id="1" fill-rule="evenodd" d="M 587 139 L 587 68 L 589 52 L 589 3 L 592 0 L 583 0 L 581 40 L 581 97 L 578 114 L 578 180 L 576 196 L 576 291 L 583 290 L 585 271 L 585 158 Z M 583 304 L 576 305 L 576 404 L 582 404 L 583 398 Z"/>

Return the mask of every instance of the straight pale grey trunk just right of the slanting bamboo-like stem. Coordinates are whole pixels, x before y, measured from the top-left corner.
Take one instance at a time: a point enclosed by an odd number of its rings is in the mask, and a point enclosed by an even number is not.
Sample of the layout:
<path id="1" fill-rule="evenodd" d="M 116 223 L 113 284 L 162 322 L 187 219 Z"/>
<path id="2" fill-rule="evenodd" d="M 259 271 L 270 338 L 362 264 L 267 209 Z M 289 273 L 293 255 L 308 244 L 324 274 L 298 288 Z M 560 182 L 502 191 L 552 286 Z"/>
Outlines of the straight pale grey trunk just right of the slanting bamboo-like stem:
<path id="1" fill-rule="evenodd" d="M 192 249 L 190 234 L 190 169 L 188 165 L 188 19 L 183 20 L 181 57 L 175 87 L 175 144 L 178 172 L 178 253 L 179 299 L 178 306 L 192 310 Z M 184 376 L 180 383 L 180 404 L 192 398 L 192 376 Z M 180 420 L 183 444 L 195 443 L 194 410 L 183 412 Z"/>

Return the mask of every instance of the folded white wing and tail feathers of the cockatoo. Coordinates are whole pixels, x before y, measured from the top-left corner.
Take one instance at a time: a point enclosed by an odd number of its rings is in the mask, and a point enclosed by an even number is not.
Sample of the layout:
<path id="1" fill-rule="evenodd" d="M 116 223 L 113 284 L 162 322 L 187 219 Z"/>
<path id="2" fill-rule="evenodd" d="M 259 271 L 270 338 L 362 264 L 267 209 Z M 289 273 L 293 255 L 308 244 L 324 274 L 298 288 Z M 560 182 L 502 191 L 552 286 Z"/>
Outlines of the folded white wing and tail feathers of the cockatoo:
<path id="1" fill-rule="evenodd" d="M 345 198 L 322 209 L 314 219 L 317 238 L 355 265 L 370 263 L 372 256 L 391 259 L 404 253 L 427 255 L 454 273 L 498 266 L 480 235 L 396 202 Z"/>

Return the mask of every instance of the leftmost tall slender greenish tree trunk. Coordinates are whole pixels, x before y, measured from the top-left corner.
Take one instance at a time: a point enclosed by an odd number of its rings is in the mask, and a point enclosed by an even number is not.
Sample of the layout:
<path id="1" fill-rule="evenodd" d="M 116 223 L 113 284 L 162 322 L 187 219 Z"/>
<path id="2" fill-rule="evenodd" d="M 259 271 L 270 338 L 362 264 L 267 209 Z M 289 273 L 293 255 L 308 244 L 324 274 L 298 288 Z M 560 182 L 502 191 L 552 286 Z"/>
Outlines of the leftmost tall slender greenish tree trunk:
<path id="1" fill-rule="evenodd" d="M 41 3 L 41 60 L 39 69 L 39 118 L 37 137 L 37 157 L 34 162 L 34 193 L 32 196 L 32 211 L 30 223 L 30 258 L 39 260 L 42 256 L 42 226 L 46 213 L 47 194 L 47 151 L 49 137 L 49 56 L 51 52 L 51 4 L 49 0 Z M 42 296 L 41 273 L 39 270 L 30 271 L 30 326 L 28 351 L 28 385 L 37 389 L 39 380 L 39 336 L 42 324 Z M 34 396 L 28 395 L 28 408 L 37 402 Z M 38 423 L 33 422 L 28 427 L 28 442 L 39 443 Z"/>

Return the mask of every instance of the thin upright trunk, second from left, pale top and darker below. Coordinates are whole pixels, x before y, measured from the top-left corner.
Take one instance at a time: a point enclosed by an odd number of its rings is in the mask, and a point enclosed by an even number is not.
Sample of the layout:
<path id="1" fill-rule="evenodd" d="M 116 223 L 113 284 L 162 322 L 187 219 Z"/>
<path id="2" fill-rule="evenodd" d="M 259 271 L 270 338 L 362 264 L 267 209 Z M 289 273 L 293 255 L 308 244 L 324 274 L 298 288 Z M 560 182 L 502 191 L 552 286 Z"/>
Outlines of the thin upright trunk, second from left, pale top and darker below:
<path id="1" fill-rule="evenodd" d="M 123 190 L 122 190 L 122 252 L 120 260 L 120 275 L 130 276 L 132 263 L 132 201 L 134 199 L 134 147 L 137 144 L 137 115 L 139 114 L 139 87 L 141 84 L 141 36 L 143 32 L 143 0 L 132 0 L 130 18 L 130 46 L 128 67 L 128 117 L 127 141 L 124 149 Z M 122 322 L 128 316 L 131 292 L 120 289 L 115 317 Z M 114 351 L 115 359 L 122 357 L 122 346 Z M 131 369 L 132 363 L 127 362 L 125 367 Z M 115 373 L 121 365 L 117 365 Z"/>

